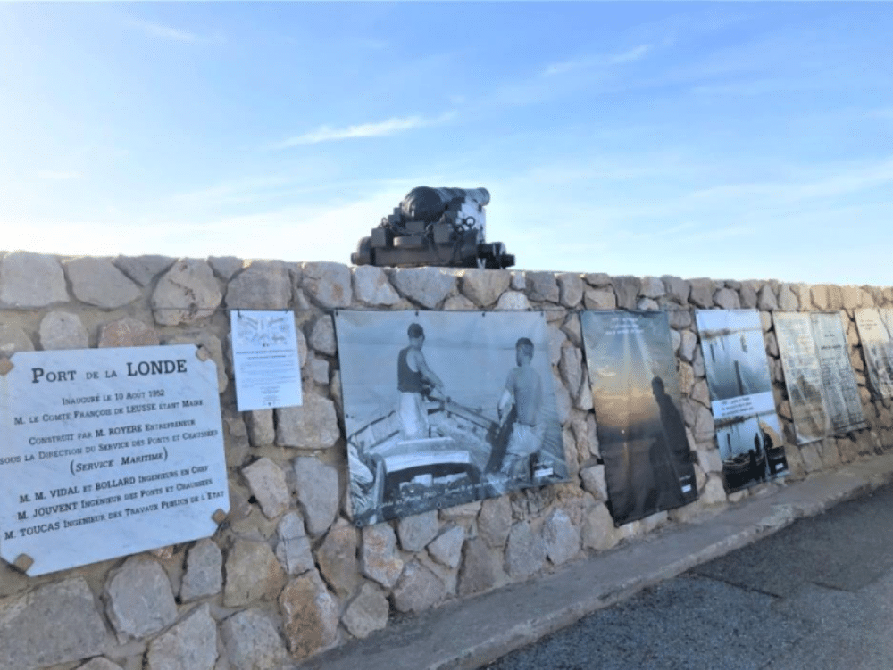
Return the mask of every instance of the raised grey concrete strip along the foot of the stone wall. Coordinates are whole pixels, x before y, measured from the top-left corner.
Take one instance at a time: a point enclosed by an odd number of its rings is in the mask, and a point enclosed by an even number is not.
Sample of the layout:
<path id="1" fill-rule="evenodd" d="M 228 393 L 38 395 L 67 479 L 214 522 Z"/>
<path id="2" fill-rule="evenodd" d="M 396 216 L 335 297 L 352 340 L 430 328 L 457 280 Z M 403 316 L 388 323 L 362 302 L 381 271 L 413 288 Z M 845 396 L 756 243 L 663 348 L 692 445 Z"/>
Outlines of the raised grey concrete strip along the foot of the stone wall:
<path id="1" fill-rule="evenodd" d="M 634 593 L 893 482 L 893 454 L 840 467 L 584 558 L 455 600 L 296 666 L 307 670 L 476 668 Z M 585 587 L 585 588 L 584 588 Z"/>

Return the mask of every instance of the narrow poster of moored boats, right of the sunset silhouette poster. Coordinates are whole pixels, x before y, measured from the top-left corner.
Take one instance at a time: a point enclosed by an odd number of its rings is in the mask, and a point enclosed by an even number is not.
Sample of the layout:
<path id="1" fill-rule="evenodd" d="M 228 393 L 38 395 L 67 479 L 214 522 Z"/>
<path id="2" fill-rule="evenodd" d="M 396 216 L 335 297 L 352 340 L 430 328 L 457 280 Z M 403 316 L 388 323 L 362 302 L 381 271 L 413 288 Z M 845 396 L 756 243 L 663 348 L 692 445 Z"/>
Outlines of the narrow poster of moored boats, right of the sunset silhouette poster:
<path id="1" fill-rule="evenodd" d="M 757 310 L 696 310 L 728 492 L 787 474 Z"/>

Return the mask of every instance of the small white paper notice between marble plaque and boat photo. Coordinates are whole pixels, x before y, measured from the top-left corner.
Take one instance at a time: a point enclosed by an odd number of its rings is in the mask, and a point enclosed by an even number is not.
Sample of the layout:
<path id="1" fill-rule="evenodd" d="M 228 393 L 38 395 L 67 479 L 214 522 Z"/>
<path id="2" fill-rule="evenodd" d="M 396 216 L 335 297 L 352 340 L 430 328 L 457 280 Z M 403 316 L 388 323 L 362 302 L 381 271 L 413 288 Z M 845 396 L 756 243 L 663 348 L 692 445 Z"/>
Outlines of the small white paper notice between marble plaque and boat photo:
<path id="1" fill-rule="evenodd" d="M 300 405 L 295 316 L 290 311 L 233 310 L 230 328 L 238 410 Z"/>

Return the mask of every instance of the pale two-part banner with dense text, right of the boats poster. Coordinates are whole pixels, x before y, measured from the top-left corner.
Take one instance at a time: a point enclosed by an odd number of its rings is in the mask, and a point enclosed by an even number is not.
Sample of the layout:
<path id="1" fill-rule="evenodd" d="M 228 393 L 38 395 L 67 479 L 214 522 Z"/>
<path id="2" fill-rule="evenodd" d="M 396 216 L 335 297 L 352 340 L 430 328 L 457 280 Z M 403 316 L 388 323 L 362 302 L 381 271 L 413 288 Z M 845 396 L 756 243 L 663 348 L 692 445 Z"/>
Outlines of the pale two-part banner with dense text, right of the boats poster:
<path id="1" fill-rule="evenodd" d="M 863 428 L 862 401 L 839 312 L 775 312 L 797 443 Z"/>

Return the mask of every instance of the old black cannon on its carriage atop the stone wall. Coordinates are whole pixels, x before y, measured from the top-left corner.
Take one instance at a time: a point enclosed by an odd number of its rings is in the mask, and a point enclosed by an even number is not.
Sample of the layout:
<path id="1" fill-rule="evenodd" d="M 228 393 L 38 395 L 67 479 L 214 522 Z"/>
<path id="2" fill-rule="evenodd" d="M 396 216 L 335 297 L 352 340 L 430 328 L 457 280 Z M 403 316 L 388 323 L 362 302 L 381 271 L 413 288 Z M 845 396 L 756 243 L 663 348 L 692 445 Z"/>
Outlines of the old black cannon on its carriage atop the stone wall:
<path id="1" fill-rule="evenodd" d="M 485 240 L 486 188 L 413 188 L 393 213 L 363 237 L 354 265 L 510 268 L 505 244 Z"/>

